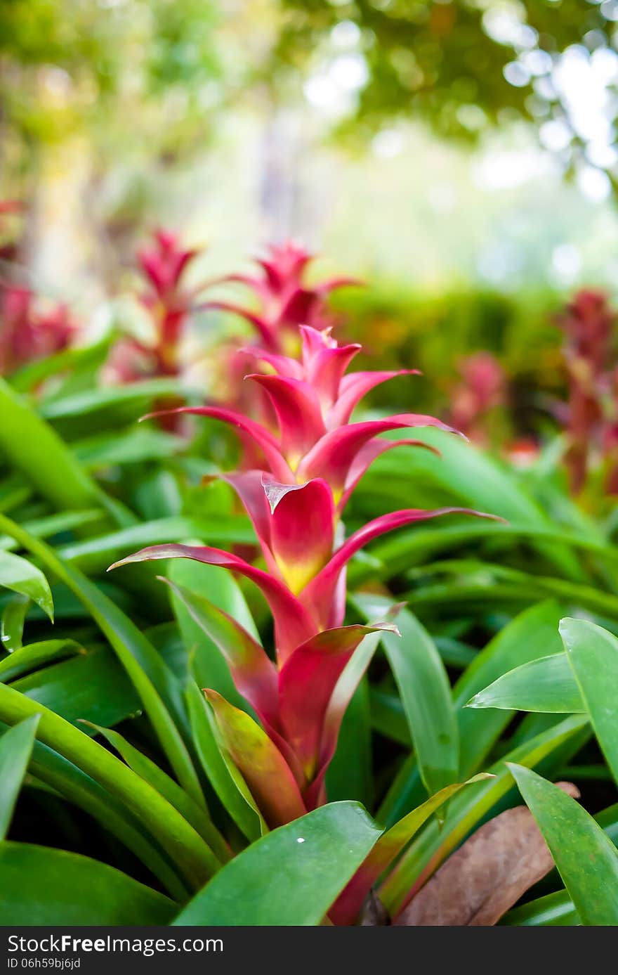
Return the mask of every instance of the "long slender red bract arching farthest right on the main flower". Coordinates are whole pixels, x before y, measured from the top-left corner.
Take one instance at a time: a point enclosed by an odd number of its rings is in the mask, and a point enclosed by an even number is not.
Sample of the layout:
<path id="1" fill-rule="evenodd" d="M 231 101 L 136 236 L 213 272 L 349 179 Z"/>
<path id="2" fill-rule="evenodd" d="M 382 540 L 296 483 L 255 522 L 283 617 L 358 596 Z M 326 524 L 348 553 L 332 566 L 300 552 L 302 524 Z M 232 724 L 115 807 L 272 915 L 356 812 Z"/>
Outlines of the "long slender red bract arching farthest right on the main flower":
<path id="1" fill-rule="evenodd" d="M 471 511 L 469 508 L 436 508 L 433 511 L 426 511 L 423 508 L 407 508 L 403 511 L 393 511 L 388 515 L 374 518 L 372 522 L 368 522 L 366 526 L 359 528 L 358 531 L 350 535 L 343 545 L 337 549 L 328 565 L 325 565 L 322 571 L 303 589 L 300 594 L 300 602 L 308 612 L 322 622 L 322 625 L 326 626 L 331 594 L 336 586 L 339 573 L 359 549 L 386 531 L 393 531 L 395 528 L 410 525 L 413 522 L 424 522 L 430 518 L 439 518 L 442 515 L 474 515 L 477 518 L 495 518 L 494 515 L 485 515 L 479 511 Z"/>

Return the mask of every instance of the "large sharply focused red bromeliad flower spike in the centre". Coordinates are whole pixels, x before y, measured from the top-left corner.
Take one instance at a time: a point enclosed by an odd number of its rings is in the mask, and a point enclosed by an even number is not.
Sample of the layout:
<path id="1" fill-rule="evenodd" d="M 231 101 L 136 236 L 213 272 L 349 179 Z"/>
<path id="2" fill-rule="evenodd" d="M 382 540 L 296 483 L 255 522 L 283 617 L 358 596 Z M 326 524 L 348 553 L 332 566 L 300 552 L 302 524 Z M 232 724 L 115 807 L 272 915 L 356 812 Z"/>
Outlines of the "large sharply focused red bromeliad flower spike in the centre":
<path id="1" fill-rule="evenodd" d="M 439 515 L 478 514 L 458 508 L 406 509 L 376 518 L 344 539 L 341 512 L 371 461 L 398 444 L 425 447 L 410 440 L 385 441 L 378 435 L 415 426 L 451 428 L 434 417 L 411 413 L 349 422 L 368 390 L 402 373 L 346 375 L 358 345 L 340 347 L 328 330 L 310 327 L 301 328 L 301 337 L 299 359 L 248 350 L 275 370 L 268 375 L 252 373 L 249 378 L 270 397 L 278 435 L 228 409 L 172 411 L 232 423 L 260 448 L 264 469 L 223 477 L 251 517 L 266 569 L 221 549 L 178 544 L 142 549 L 116 564 L 194 559 L 245 576 L 261 590 L 274 618 L 275 661 L 236 620 L 208 600 L 202 599 L 199 609 L 186 604 L 220 648 L 236 686 L 261 721 L 260 728 L 215 691 L 206 691 L 225 747 L 269 826 L 288 822 L 326 801 L 328 762 L 368 657 L 352 675 L 346 665 L 367 634 L 392 629 L 388 623 L 343 626 L 348 561 L 386 531 Z M 181 588 L 174 590 L 182 599 Z"/>

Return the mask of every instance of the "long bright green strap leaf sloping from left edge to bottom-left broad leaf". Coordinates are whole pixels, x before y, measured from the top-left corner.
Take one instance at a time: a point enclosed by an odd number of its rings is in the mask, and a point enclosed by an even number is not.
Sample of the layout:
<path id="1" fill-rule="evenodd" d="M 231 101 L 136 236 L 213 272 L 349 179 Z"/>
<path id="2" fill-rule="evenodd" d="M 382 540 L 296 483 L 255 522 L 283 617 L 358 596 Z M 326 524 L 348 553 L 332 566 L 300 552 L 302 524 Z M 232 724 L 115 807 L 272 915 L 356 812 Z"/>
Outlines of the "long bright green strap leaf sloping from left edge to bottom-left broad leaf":
<path id="1" fill-rule="evenodd" d="M 178 868 L 190 884 L 196 886 L 212 876 L 219 867 L 218 860 L 173 805 L 83 731 L 12 687 L 0 684 L 0 721 L 16 724 L 33 715 L 40 715 L 38 740 L 72 761 L 125 802 L 163 848 L 174 855 Z"/>

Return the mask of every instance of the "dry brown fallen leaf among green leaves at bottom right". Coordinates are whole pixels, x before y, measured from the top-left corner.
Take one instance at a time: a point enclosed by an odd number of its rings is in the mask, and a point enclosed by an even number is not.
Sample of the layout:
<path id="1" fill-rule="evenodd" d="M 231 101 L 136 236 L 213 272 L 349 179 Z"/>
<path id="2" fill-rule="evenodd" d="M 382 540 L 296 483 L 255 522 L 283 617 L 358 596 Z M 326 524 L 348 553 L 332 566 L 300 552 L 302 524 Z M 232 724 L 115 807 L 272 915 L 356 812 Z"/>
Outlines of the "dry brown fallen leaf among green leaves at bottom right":
<path id="1" fill-rule="evenodd" d="M 562 792 L 579 799 L 570 782 Z M 527 806 L 501 812 L 453 853 L 393 923 L 406 926 L 495 924 L 554 866 Z"/>

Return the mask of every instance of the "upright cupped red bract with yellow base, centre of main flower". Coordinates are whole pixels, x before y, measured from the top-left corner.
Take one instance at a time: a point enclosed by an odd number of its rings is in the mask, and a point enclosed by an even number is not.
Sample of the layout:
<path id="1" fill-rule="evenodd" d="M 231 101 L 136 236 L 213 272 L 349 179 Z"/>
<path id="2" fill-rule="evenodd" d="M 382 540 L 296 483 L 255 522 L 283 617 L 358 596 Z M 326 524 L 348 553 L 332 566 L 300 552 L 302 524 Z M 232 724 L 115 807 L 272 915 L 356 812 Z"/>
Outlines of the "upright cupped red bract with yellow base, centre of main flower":
<path id="1" fill-rule="evenodd" d="M 262 489 L 271 506 L 271 551 L 286 584 L 297 595 L 332 554 L 332 491 L 322 479 L 304 485 L 265 482 Z"/>

